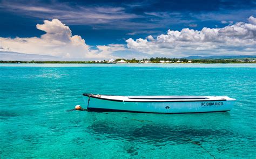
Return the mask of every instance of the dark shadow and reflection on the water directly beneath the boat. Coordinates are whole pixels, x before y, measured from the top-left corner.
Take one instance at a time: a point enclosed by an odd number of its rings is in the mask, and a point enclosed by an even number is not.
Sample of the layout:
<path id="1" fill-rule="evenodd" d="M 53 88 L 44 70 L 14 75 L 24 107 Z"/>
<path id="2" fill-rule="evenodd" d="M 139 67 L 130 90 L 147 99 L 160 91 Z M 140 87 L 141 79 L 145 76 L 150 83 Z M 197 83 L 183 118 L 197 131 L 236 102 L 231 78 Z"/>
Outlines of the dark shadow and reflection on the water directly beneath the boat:
<path id="1" fill-rule="evenodd" d="M 147 143 L 169 142 L 169 144 L 184 143 L 187 142 L 187 138 L 204 140 L 207 136 L 216 137 L 232 134 L 228 128 L 220 127 L 223 124 L 228 124 L 229 113 L 216 113 L 210 118 L 206 114 L 203 117 L 199 117 L 202 114 L 183 114 L 182 116 L 175 114 L 173 117 L 168 114 L 130 114 L 117 112 L 95 113 L 93 115 L 95 119 L 88 129 L 91 133 L 98 134 L 99 138 L 104 135 L 106 138 L 123 138 Z M 214 119 L 214 117 L 219 119 Z M 191 118 L 197 118 L 198 121 L 194 122 L 194 119 Z M 204 121 L 207 118 L 208 121 Z M 221 118 L 225 118 L 225 121 L 220 123 L 219 126 L 209 125 L 205 127 L 205 124 L 210 122 L 214 125 Z"/>

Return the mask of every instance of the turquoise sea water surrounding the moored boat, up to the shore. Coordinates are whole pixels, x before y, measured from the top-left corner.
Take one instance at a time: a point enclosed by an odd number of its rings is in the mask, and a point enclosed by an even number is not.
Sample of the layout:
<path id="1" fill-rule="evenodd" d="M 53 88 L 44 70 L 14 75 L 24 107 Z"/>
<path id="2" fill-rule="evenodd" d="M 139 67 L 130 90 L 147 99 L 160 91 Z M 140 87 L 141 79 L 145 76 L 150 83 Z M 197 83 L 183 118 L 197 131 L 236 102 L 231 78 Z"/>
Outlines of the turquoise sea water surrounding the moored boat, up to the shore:
<path id="1" fill-rule="evenodd" d="M 82 93 L 230 96 L 230 112 L 97 113 Z M 0 158 L 256 157 L 256 64 L 0 64 Z"/>

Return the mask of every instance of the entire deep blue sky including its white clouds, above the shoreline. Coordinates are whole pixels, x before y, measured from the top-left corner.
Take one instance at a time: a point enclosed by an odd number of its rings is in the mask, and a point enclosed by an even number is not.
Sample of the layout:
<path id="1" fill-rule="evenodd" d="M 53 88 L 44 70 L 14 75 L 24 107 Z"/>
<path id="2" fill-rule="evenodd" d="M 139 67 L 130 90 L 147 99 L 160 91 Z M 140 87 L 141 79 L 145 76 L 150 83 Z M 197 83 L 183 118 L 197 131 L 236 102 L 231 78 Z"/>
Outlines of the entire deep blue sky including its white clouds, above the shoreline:
<path id="1" fill-rule="evenodd" d="M 0 51 L 59 59 L 255 55 L 255 16 L 256 1 L 0 1 Z"/>

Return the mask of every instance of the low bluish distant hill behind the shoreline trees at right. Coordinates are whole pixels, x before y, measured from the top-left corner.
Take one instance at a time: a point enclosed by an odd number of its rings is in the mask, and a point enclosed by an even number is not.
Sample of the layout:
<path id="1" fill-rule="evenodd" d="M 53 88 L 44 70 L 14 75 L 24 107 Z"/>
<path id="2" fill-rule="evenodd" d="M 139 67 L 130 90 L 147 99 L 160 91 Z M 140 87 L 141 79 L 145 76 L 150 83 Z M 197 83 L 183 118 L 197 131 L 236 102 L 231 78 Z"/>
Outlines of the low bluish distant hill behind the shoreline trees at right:
<path id="1" fill-rule="evenodd" d="M 245 59 L 245 58 L 256 58 L 256 55 L 237 55 L 237 56 L 188 56 L 183 57 L 188 60 L 195 59 Z"/>

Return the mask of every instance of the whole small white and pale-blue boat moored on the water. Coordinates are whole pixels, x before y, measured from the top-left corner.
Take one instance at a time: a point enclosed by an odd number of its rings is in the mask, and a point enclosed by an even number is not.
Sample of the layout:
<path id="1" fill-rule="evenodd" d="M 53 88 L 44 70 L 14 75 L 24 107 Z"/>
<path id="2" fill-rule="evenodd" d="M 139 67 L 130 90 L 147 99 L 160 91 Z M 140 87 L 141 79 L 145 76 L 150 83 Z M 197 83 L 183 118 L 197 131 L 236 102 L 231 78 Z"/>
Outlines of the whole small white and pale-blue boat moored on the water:
<path id="1" fill-rule="evenodd" d="M 203 113 L 230 111 L 227 96 L 112 96 L 83 94 L 87 111 L 140 113 Z"/>

